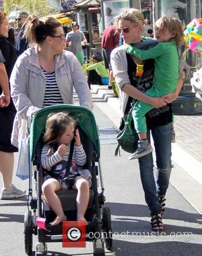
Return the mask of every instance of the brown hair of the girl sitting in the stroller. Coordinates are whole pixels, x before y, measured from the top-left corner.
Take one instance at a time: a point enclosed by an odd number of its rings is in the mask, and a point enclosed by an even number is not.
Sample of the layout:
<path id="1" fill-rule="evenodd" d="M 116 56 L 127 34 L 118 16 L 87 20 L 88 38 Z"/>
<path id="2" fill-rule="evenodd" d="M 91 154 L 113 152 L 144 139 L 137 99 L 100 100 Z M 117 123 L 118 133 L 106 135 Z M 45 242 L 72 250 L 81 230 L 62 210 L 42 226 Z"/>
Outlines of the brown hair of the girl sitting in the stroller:
<path id="1" fill-rule="evenodd" d="M 51 113 L 46 120 L 46 131 L 44 133 L 44 143 L 53 145 L 57 139 L 65 133 L 67 125 L 75 128 L 76 121 L 68 113 Z"/>

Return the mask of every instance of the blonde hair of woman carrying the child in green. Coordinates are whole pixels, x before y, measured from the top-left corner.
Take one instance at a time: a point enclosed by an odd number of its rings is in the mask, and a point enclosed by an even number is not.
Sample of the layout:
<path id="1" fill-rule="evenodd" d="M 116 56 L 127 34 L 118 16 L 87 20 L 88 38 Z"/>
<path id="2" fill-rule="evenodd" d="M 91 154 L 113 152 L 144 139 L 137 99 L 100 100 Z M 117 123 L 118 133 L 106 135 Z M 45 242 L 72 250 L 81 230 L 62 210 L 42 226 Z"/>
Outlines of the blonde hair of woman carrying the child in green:
<path id="1" fill-rule="evenodd" d="M 143 14 L 139 9 L 129 8 L 124 9 L 121 11 L 121 14 L 116 16 L 115 18 L 115 25 L 118 26 L 119 20 L 128 20 L 129 22 L 132 22 L 136 25 L 143 25 L 145 24 Z"/>

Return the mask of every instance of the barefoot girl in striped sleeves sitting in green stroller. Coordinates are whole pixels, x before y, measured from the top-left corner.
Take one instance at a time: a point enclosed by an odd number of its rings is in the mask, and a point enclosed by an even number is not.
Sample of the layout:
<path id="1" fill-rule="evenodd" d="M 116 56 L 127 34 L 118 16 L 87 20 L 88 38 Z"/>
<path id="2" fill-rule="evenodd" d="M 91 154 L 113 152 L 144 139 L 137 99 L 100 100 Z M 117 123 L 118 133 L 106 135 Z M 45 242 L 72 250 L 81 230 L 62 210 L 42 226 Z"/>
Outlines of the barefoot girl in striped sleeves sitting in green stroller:
<path id="1" fill-rule="evenodd" d="M 71 184 L 67 185 L 67 182 L 64 182 L 64 177 L 67 173 L 69 157 L 71 157 L 70 144 L 73 139 L 75 139 L 75 145 L 69 170 Z M 77 220 L 86 221 L 84 214 L 90 198 L 89 188 L 92 177 L 90 170 L 81 168 L 86 164 L 86 152 L 81 144 L 79 130 L 75 129 L 75 120 L 67 113 L 48 115 L 44 143 L 41 154 L 41 164 L 45 169 L 42 192 L 44 199 L 56 214 L 55 220 L 50 222 L 50 225 L 55 226 L 63 220 L 67 220 L 61 201 L 55 193 L 65 187 L 77 189 Z"/>

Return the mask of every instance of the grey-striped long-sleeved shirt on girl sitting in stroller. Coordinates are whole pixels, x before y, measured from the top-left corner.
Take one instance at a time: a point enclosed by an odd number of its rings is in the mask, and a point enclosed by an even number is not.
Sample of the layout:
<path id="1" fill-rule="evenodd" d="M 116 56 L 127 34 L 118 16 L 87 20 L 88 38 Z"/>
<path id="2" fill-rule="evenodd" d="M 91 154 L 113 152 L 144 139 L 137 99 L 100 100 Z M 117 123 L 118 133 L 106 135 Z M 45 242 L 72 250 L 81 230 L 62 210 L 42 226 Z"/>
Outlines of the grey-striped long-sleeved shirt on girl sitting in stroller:
<path id="1" fill-rule="evenodd" d="M 42 167 L 46 170 L 50 170 L 55 164 L 58 164 L 59 162 L 62 162 L 65 160 L 67 162 L 69 160 L 69 153 L 70 153 L 70 146 L 69 150 L 67 150 L 67 153 L 61 156 L 58 151 L 55 153 L 49 155 L 48 152 L 50 150 L 50 146 L 48 144 L 45 144 L 42 148 L 41 153 L 41 164 Z M 83 146 L 74 146 L 73 148 L 73 156 L 72 156 L 72 162 L 75 162 L 77 166 L 83 166 L 86 164 L 86 152 L 83 150 Z M 70 170 L 71 172 L 71 170 Z"/>

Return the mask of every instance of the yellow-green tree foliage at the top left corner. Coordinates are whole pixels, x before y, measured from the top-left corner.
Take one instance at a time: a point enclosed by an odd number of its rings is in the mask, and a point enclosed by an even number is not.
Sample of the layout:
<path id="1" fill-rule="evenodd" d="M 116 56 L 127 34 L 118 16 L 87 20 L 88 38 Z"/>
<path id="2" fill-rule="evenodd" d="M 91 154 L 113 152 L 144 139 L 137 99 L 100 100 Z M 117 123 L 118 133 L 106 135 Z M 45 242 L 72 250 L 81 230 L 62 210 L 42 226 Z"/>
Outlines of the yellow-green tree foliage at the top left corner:
<path id="1" fill-rule="evenodd" d="M 48 0 L 4 0 L 3 5 L 7 14 L 13 9 L 27 11 L 38 16 L 46 16 L 55 12 L 55 8 Z"/>

